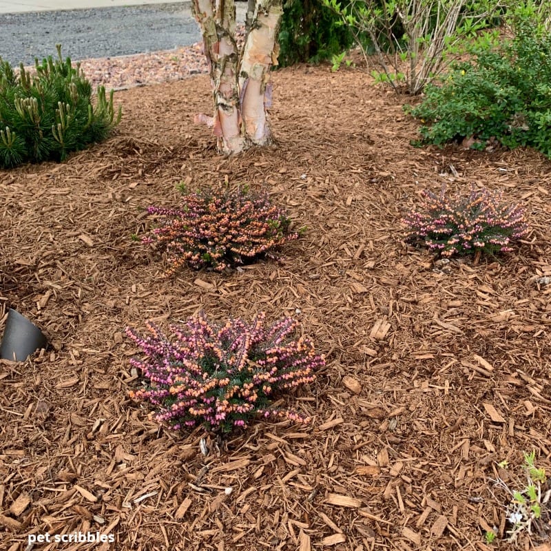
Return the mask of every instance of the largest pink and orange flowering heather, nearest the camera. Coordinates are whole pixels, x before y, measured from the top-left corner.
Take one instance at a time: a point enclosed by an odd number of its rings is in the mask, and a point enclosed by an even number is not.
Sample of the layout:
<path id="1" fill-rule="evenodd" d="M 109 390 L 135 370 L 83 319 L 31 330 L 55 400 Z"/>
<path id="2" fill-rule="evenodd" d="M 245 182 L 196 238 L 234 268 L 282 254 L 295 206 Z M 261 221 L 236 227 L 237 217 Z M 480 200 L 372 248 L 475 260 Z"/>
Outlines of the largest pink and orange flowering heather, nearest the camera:
<path id="1" fill-rule="evenodd" d="M 312 382 L 324 357 L 306 337 L 291 338 L 295 320 L 265 326 L 264 318 L 260 313 L 250 325 L 239 318 L 216 324 L 200 313 L 183 326 L 171 325 L 171 337 L 152 322 L 146 324 L 150 335 L 145 337 L 127 328 L 145 354 L 130 361 L 150 381 L 130 397 L 156 406 L 152 417 L 175 429 L 203 424 L 229 432 L 256 417 L 309 422 L 270 404 L 281 391 Z"/>

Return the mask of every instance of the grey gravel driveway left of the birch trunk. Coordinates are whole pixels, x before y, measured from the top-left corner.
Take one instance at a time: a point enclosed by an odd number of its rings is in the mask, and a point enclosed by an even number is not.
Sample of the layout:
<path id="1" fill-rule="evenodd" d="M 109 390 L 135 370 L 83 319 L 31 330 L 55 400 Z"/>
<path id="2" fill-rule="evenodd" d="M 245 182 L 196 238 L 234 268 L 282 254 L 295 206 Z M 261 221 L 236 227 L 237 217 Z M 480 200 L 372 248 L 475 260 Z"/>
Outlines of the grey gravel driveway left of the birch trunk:
<path id="1" fill-rule="evenodd" d="M 73 60 L 121 56 L 191 45 L 200 40 L 191 4 L 166 3 L 93 10 L 1 14 L 0 55 L 12 65 L 56 54 Z"/>

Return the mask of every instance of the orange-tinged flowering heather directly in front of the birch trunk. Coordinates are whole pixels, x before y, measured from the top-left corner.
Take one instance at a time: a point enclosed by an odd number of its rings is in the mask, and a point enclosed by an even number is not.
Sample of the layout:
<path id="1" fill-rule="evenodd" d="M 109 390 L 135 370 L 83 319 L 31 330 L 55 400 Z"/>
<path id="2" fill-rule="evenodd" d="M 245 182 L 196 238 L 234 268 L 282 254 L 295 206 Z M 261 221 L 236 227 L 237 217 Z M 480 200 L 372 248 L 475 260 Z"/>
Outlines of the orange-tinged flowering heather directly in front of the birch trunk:
<path id="1" fill-rule="evenodd" d="M 266 193 L 248 189 L 222 196 L 189 194 L 181 207 L 147 211 L 163 220 L 142 242 L 156 243 L 167 251 L 169 274 L 184 264 L 223 271 L 262 254 L 274 258 L 273 249 L 298 238 L 298 233 L 289 231 L 289 218 L 271 205 Z"/>

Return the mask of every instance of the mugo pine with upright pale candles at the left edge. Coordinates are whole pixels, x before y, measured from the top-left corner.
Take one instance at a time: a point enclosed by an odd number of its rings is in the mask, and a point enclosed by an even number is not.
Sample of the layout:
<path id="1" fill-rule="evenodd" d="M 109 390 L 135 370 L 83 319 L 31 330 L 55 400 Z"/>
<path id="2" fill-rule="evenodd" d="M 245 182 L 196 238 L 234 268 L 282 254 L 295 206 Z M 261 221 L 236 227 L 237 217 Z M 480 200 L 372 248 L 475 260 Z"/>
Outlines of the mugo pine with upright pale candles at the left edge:
<path id="1" fill-rule="evenodd" d="M 35 61 L 35 74 L 21 63 L 14 72 L 0 57 L 0 167 L 63 160 L 67 154 L 104 140 L 121 118 L 114 114 L 113 92 L 107 100 L 98 87 L 92 105 L 92 86 L 79 63 L 48 57 Z"/>

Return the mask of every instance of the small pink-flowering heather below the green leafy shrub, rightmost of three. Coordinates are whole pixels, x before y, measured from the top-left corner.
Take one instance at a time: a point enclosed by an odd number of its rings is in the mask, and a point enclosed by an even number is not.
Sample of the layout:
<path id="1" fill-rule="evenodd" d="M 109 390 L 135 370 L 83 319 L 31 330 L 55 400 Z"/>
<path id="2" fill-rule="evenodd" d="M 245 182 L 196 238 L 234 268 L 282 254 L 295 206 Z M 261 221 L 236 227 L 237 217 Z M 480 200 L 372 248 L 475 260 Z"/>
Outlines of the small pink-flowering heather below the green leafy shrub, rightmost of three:
<path id="1" fill-rule="evenodd" d="M 468 196 L 448 198 L 444 188 L 439 195 L 424 191 L 423 196 L 419 210 L 402 219 L 406 237 L 441 256 L 511 251 L 510 240 L 528 232 L 522 209 L 501 202 L 501 192 L 473 185 Z"/>

